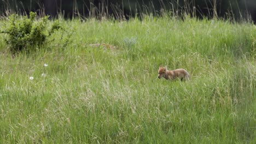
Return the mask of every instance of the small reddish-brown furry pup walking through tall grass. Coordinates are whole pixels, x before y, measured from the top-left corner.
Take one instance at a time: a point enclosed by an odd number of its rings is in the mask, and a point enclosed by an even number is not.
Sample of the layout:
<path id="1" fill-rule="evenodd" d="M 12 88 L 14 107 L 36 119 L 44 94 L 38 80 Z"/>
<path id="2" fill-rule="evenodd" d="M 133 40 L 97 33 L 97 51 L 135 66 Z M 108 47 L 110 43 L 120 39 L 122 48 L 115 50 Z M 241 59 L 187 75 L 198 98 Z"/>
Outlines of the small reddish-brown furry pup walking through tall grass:
<path id="1" fill-rule="evenodd" d="M 181 79 L 181 81 L 184 79 L 189 80 L 189 73 L 188 71 L 184 69 L 176 69 L 176 70 L 167 70 L 166 66 L 162 67 L 160 65 L 158 69 L 158 78 L 164 77 L 166 80 L 175 80 L 177 78 Z"/>

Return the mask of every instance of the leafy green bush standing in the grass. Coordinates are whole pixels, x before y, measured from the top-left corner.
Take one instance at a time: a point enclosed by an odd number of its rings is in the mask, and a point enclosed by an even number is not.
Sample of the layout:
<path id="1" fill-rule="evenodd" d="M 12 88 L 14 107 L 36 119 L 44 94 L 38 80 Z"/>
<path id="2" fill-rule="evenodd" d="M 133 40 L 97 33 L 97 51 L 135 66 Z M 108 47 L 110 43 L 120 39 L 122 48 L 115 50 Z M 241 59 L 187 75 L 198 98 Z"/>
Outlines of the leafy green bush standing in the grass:
<path id="1" fill-rule="evenodd" d="M 9 16 L 2 33 L 8 34 L 5 39 L 10 46 L 10 51 L 33 51 L 38 47 L 41 47 L 48 36 L 50 36 L 56 29 L 60 28 L 59 23 L 55 22 L 50 29 L 48 16 L 44 16 L 40 19 L 36 19 L 37 14 L 30 12 L 30 16 L 23 16 L 21 18 L 18 15 Z"/>

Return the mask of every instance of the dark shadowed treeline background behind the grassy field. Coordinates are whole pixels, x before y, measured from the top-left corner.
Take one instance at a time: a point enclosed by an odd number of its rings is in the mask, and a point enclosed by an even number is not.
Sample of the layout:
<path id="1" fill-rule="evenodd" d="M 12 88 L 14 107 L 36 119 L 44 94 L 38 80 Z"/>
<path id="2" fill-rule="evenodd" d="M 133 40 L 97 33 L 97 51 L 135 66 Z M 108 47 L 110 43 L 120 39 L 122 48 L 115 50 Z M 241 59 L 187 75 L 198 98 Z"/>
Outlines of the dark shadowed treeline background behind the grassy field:
<path id="1" fill-rule="evenodd" d="M 174 15 L 185 12 L 196 17 L 232 17 L 236 20 L 243 17 L 256 21 L 255 0 L 2 0 L 0 5 L 2 15 L 37 11 L 51 17 L 113 16 L 129 19 L 145 13 L 161 15 L 162 11 L 171 11 Z"/>

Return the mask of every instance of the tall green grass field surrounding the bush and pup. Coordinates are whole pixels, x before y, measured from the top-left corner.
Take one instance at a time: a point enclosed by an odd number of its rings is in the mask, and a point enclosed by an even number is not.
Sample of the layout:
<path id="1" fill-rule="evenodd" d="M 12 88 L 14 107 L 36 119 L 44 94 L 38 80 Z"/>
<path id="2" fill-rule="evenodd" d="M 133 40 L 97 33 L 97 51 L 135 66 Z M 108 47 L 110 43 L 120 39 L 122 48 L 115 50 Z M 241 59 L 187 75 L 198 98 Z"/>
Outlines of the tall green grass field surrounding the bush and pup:
<path id="1" fill-rule="evenodd" d="M 60 22 L 71 37 L 30 55 L 0 35 L 0 143 L 256 142 L 252 23 Z M 161 64 L 191 80 L 157 79 Z"/>

